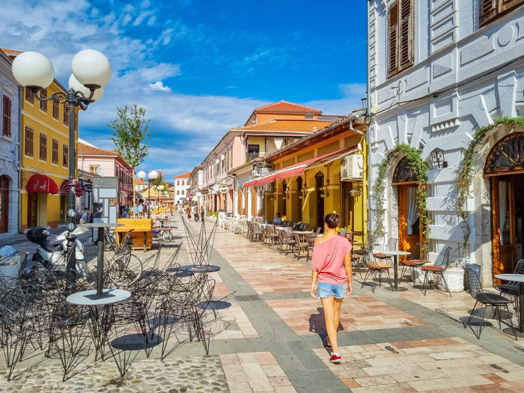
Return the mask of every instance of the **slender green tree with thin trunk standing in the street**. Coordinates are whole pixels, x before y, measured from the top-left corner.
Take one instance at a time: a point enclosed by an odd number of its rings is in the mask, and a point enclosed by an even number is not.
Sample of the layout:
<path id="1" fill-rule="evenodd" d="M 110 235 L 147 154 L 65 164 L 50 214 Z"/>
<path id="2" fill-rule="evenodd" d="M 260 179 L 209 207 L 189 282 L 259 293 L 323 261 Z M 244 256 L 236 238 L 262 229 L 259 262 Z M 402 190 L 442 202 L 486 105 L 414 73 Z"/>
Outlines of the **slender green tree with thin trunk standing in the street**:
<path id="1" fill-rule="evenodd" d="M 144 162 L 149 155 L 147 142 L 154 131 L 149 131 L 149 122 L 146 119 L 146 108 L 133 104 L 123 108 L 116 108 L 117 118 L 107 126 L 111 128 L 115 143 L 115 151 L 133 168 L 133 216 L 135 215 L 135 168 Z"/>

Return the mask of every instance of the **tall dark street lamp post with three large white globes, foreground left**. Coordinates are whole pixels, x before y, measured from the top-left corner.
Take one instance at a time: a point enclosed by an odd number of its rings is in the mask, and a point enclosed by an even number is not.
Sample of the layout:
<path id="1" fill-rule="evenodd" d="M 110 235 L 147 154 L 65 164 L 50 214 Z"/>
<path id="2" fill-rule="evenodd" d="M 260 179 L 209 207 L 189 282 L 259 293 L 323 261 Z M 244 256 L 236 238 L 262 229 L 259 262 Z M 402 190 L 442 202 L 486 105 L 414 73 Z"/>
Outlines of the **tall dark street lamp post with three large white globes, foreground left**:
<path id="1" fill-rule="evenodd" d="M 26 89 L 29 89 L 39 101 L 55 100 L 67 105 L 69 110 L 69 206 L 68 206 L 68 234 L 67 248 L 67 285 L 71 287 L 75 281 L 75 241 L 77 236 L 72 234 L 75 228 L 75 108 L 83 111 L 88 105 L 102 96 L 104 85 L 111 79 L 111 64 L 99 51 L 85 49 L 73 57 L 71 64 L 73 73 L 69 77 L 69 91 L 57 91 L 47 98 L 42 98 L 38 92 L 46 89 L 54 80 L 54 68 L 51 62 L 38 52 L 23 52 L 13 60 L 13 75 Z"/>

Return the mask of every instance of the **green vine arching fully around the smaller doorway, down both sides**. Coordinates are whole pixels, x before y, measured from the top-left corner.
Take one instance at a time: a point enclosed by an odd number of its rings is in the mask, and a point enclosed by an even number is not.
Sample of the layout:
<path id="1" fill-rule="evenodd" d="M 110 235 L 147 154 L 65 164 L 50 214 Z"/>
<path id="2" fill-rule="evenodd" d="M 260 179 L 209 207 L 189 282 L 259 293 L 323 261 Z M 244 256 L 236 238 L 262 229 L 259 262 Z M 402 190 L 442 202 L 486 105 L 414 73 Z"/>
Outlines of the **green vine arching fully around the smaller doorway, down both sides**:
<path id="1" fill-rule="evenodd" d="M 377 235 L 384 232 L 384 216 L 386 214 L 386 208 L 384 207 L 384 191 L 386 186 L 384 180 L 386 180 L 386 176 L 390 173 L 389 168 L 391 162 L 397 157 L 399 152 L 406 153 L 407 165 L 417 179 L 417 203 L 420 209 L 420 227 L 422 228 L 423 236 L 428 238 L 431 221 L 428 217 L 428 193 L 426 191 L 428 178 L 426 177 L 426 172 L 429 167 L 428 164 L 422 160 L 420 150 L 407 144 L 400 144 L 389 150 L 378 167 L 378 178 L 375 180 L 372 195 L 372 201 L 377 215 L 377 224 L 373 233 Z"/>

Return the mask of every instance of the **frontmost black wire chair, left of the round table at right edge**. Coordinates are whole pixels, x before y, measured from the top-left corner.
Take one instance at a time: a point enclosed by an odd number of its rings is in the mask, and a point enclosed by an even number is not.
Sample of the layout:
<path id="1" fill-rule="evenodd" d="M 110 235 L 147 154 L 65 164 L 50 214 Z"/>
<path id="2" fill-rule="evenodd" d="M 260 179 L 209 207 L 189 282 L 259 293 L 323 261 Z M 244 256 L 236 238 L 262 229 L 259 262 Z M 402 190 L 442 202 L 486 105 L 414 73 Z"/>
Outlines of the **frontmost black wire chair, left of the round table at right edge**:
<path id="1" fill-rule="evenodd" d="M 502 328 L 500 324 L 500 320 L 501 320 L 500 309 L 506 310 L 507 315 L 509 315 L 508 320 L 509 320 L 509 324 L 511 327 L 511 331 L 515 334 L 515 326 L 513 326 L 513 322 L 511 321 L 511 313 L 509 312 L 509 309 L 508 309 L 508 304 L 512 303 L 512 301 L 509 299 L 506 299 L 503 296 L 500 296 L 499 294 L 484 292 L 484 290 L 482 289 L 481 281 L 478 279 L 478 276 L 475 270 L 468 268 L 468 267 L 465 267 L 464 270 L 466 272 L 466 278 L 467 278 L 468 286 L 470 288 L 470 294 L 475 299 L 475 305 L 473 306 L 473 310 L 471 310 L 470 318 L 468 318 L 467 322 L 464 323 L 464 329 L 467 329 L 467 326 L 470 326 L 471 330 L 473 331 L 473 334 L 475 334 L 477 339 L 480 340 L 482 330 L 485 328 L 486 322 L 487 322 L 486 319 L 484 318 L 486 314 L 486 308 L 491 307 L 493 309 L 494 318 L 498 320 L 499 329 Z M 481 323 L 478 326 L 478 331 L 475 331 L 473 330 L 471 321 L 476 316 L 475 314 L 481 310 L 482 306 L 484 307 L 482 308 Z M 497 318 L 497 315 L 498 315 L 498 318 Z M 517 340 L 516 335 L 515 335 L 515 340 Z"/>

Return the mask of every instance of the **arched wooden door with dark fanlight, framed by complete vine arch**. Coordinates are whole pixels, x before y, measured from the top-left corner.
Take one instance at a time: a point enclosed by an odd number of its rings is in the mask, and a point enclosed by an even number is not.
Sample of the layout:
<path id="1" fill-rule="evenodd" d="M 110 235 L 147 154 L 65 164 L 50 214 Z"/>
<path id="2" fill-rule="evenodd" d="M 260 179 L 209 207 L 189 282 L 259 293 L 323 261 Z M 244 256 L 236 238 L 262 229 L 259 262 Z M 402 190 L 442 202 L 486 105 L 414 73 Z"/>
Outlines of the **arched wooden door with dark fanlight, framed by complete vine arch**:
<path id="1" fill-rule="evenodd" d="M 391 185 L 396 185 L 398 191 L 399 249 L 410 251 L 422 241 L 422 228 L 417 203 L 418 181 L 407 157 L 402 158 L 395 168 Z"/>

